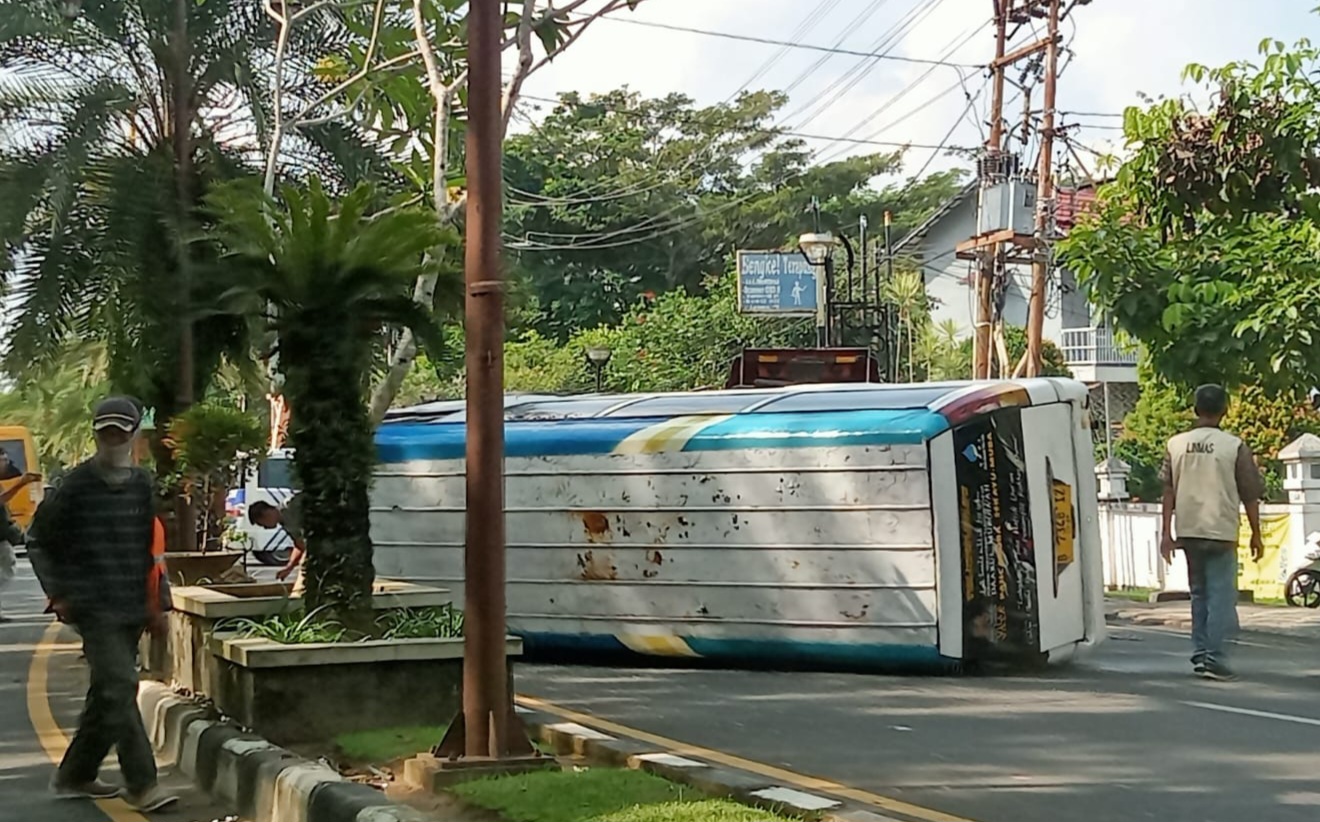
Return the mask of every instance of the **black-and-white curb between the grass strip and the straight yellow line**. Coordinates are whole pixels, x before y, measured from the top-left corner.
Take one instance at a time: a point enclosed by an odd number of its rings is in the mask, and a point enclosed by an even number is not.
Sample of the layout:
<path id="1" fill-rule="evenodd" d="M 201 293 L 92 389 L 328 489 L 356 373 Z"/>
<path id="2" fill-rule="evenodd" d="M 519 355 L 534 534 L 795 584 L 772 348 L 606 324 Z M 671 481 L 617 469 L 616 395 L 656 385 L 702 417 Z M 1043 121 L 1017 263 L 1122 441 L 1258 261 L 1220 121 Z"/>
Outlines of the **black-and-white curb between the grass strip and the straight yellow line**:
<path id="1" fill-rule="evenodd" d="M 684 751 L 668 751 L 639 739 L 601 732 L 554 714 L 517 709 L 527 732 L 560 756 L 578 756 L 611 768 L 631 768 L 722 797 L 817 822 L 900 822 L 821 793 L 781 785 L 776 780 L 706 761 Z"/>

